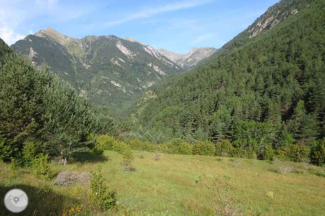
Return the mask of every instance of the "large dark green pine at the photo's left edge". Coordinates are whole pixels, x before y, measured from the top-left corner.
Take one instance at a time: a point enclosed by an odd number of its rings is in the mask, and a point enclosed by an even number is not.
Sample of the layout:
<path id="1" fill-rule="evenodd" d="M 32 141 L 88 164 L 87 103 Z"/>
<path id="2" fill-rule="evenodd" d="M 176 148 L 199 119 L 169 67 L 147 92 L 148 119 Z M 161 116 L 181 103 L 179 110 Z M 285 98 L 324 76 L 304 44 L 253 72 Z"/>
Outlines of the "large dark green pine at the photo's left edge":
<path id="1" fill-rule="evenodd" d="M 20 145 L 40 138 L 44 88 L 51 81 L 47 69 L 36 70 L 29 60 L 8 55 L 0 68 L 0 130 Z"/>

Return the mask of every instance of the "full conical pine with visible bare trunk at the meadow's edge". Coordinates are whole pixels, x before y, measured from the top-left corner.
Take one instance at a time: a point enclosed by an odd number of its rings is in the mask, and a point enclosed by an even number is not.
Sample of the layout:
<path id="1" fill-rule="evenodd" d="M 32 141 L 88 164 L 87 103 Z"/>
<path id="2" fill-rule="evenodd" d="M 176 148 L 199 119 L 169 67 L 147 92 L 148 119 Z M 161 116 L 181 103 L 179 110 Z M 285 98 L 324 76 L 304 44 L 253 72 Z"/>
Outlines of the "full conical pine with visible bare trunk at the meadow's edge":
<path id="1" fill-rule="evenodd" d="M 45 90 L 45 122 L 42 138 L 47 152 L 61 155 L 66 165 L 73 152 L 88 148 L 86 137 L 99 129 L 97 118 L 87 102 L 60 79 L 54 79 Z"/>

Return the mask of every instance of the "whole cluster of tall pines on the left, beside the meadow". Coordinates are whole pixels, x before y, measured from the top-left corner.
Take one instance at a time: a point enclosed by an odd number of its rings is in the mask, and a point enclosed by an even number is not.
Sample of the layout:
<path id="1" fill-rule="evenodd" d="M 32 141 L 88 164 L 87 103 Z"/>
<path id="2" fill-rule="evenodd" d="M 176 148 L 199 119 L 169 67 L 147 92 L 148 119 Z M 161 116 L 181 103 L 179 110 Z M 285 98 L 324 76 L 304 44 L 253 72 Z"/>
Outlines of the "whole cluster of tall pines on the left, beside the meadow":
<path id="1" fill-rule="evenodd" d="M 87 149 L 101 123 L 87 101 L 45 65 L 0 48 L 0 160 L 28 166 L 40 153 L 61 155 Z M 3 54 L 3 55 L 2 55 Z"/>

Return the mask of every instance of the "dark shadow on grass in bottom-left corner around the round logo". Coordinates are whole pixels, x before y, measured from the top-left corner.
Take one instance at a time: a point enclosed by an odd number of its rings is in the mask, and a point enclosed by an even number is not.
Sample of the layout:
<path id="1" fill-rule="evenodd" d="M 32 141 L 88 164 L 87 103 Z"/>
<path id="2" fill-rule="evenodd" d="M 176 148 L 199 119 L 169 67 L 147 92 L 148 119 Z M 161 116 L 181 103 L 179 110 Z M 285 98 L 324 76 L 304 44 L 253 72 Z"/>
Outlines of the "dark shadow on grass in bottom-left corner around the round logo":
<path id="1" fill-rule="evenodd" d="M 25 191 L 28 196 L 28 206 L 20 213 L 12 213 L 4 206 L 5 194 L 14 188 Z M 81 205 L 81 202 L 80 199 L 57 194 L 48 186 L 35 187 L 26 184 L 6 186 L 0 183 L 0 216 L 62 216 L 63 212 Z"/>

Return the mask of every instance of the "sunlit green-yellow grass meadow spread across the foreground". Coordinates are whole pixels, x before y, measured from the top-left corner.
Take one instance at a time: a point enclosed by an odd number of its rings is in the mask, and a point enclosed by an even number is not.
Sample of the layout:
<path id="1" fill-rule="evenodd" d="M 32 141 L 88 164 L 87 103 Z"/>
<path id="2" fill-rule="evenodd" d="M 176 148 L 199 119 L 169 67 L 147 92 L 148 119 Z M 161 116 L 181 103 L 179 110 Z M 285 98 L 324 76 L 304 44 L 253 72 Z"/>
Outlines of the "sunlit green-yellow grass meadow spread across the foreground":
<path id="1" fill-rule="evenodd" d="M 137 157 L 137 151 L 134 154 L 133 173 L 121 170 L 122 155 L 112 151 L 105 151 L 103 156 L 79 153 L 67 167 L 56 162 L 58 159 L 52 162 L 56 174 L 95 170 L 101 164 L 109 190 L 115 193 L 115 212 L 101 212 L 91 204 L 89 185 L 54 185 L 54 180 L 38 180 L 30 169 L 12 171 L 1 163 L 0 216 L 10 215 L 3 198 L 12 188 L 20 188 L 29 196 L 26 210 L 15 215 L 216 215 L 207 200 L 210 192 L 195 183 L 203 173 L 206 179 L 218 174 L 230 176 L 236 196 L 251 200 L 251 213 L 325 216 L 325 173 L 319 167 L 306 171 L 303 164 L 290 163 L 295 171 L 282 175 L 270 161 L 241 159 L 235 166 L 238 159 L 233 158 L 221 162 L 219 157 L 163 154 L 163 160 L 155 161 L 155 153 L 143 152 L 143 158 Z"/>

